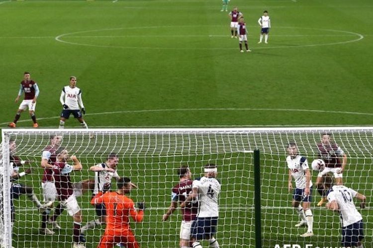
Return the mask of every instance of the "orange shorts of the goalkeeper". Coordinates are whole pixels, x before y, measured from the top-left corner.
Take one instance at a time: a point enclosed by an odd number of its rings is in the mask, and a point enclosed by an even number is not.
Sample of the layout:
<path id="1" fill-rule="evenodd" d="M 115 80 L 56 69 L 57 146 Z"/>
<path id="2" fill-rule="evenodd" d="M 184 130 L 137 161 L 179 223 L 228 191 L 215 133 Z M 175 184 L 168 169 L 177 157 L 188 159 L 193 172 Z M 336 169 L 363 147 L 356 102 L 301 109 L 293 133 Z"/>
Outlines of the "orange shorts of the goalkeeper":
<path id="1" fill-rule="evenodd" d="M 104 233 L 97 248 L 112 248 L 114 244 L 121 243 L 126 248 L 140 248 L 131 230 Z"/>

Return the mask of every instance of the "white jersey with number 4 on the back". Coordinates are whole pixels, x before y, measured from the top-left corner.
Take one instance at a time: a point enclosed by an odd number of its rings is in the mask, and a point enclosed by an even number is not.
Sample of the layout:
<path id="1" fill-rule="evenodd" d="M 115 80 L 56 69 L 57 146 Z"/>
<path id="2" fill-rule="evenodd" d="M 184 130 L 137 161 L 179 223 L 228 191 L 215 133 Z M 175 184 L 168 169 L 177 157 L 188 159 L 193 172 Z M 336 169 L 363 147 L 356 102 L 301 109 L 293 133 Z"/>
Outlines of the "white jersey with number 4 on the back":
<path id="1" fill-rule="evenodd" d="M 218 217 L 218 196 L 220 183 L 215 178 L 202 177 L 193 181 L 193 188 L 198 188 L 199 210 L 197 217 Z"/>

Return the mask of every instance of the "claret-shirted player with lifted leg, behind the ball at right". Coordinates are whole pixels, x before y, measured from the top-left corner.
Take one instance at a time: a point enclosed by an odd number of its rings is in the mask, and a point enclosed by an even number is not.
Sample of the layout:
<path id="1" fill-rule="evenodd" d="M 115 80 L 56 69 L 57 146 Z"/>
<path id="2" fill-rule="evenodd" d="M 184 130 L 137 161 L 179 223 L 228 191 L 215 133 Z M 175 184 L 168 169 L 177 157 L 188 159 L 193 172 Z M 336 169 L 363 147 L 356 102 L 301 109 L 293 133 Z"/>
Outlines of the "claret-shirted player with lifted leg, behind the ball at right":
<path id="1" fill-rule="evenodd" d="M 317 144 L 319 158 L 324 160 L 325 169 L 317 175 L 317 191 L 321 195 L 321 200 L 317 203 L 322 206 L 326 201 L 326 192 L 323 186 L 323 177 L 328 173 L 333 173 L 337 185 L 342 185 L 342 173 L 347 164 L 347 156 L 342 148 L 333 141 L 330 133 L 323 133 L 321 143 Z"/>

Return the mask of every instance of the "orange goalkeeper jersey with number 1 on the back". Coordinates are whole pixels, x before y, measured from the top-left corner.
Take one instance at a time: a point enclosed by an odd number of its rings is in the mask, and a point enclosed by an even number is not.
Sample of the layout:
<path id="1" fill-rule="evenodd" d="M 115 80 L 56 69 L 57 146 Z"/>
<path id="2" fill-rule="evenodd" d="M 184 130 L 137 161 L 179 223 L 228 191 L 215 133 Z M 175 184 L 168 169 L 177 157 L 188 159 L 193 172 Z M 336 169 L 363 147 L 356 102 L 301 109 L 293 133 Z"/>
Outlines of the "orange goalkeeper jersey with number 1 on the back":
<path id="1" fill-rule="evenodd" d="M 117 192 L 106 192 L 97 194 L 93 197 L 91 204 L 105 204 L 106 207 L 106 230 L 119 231 L 128 230 L 129 216 L 135 222 L 141 222 L 144 217 L 144 211 L 135 209 L 135 204 L 131 198 Z"/>

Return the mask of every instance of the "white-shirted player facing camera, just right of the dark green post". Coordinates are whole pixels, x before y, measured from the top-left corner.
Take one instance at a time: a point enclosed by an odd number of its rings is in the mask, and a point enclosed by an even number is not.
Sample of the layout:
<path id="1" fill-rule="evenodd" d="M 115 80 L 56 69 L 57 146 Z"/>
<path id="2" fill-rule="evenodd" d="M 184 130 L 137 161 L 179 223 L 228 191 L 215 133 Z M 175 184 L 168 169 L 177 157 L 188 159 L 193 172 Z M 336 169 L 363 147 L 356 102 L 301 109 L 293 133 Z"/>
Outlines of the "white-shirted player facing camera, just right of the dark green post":
<path id="1" fill-rule="evenodd" d="M 301 219 L 295 226 L 301 227 L 307 225 L 307 232 L 301 236 L 311 237 L 313 236 L 313 215 L 311 211 L 312 182 L 307 158 L 299 155 L 298 147 L 294 142 L 289 143 L 287 146 L 287 153 L 286 164 L 289 168 L 289 191 L 293 188 L 291 179 L 294 178 L 295 181 L 295 189 L 291 204 L 297 210 Z M 302 202 L 302 206 L 300 206 L 300 202 Z"/>

